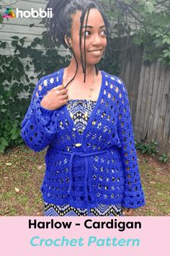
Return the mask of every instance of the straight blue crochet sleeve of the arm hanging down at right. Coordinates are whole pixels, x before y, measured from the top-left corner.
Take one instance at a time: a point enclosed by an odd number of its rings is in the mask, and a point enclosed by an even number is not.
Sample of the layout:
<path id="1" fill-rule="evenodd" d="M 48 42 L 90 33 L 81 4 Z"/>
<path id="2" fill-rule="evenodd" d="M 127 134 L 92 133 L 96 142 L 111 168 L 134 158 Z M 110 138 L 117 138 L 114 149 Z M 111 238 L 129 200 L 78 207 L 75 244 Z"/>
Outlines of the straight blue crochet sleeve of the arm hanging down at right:
<path id="1" fill-rule="evenodd" d="M 140 182 L 128 93 L 123 82 L 119 86 L 117 94 L 120 101 L 117 116 L 117 134 L 122 144 L 120 151 L 125 179 L 125 194 L 122 206 L 125 208 L 139 208 L 145 205 L 145 198 Z"/>

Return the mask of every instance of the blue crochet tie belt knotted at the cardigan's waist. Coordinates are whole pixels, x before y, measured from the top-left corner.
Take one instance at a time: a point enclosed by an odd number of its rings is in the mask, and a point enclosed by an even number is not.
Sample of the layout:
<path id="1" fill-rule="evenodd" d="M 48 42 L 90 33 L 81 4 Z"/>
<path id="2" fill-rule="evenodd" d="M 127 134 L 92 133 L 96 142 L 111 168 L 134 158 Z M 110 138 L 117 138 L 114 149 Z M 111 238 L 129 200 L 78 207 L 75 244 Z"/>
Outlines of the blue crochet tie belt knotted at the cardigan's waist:
<path id="1" fill-rule="evenodd" d="M 71 158 L 69 160 L 69 167 L 68 167 L 68 173 L 69 173 L 68 195 L 71 195 L 71 190 L 72 190 L 72 187 L 73 187 L 73 158 L 75 156 L 84 157 L 84 159 L 85 159 L 85 176 L 84 176 L 85 202 L 86 202 L 86 206 L 87 206 L 87 212 L 89 214 L 89 210 L 91 209 L 91 205 L 90 205 L 89 200 L 88 200 L 87 187 L 89 185 L 89 192 L 92 192 L 93 194 L 94 194 L 94 189 L 93 189 L 93 187 L 91 187 L 91 181 L 92 181 L 91 159 L 90 159 L 90 163 L 89 163 L 88 156 L 107 153 L 108 150 L 96 151 L 96 152 L 92 152 L 92 153 L 82 153 L 82 152 L 69 153 L 69 152 L 58 150 L 55 147 L 50 147 L 50 149 L 53 149 L 53 150 L 55 150 L 55 152 L 60 153 L 60 154 L 62 153 L 62 154 L 66 154 L 66 155 L 71 155 Z M 89 165 L 90 165 L 90 167 L 89 167 Z M 91 175 L 89 175 L 89 184 L 88 184 L 88 174 L 91 174 Z M 95 195 L 94 195 L 93 205 L 94 205 L 94 207 L 97 206 L 97 199 L 96 199 Z"/>

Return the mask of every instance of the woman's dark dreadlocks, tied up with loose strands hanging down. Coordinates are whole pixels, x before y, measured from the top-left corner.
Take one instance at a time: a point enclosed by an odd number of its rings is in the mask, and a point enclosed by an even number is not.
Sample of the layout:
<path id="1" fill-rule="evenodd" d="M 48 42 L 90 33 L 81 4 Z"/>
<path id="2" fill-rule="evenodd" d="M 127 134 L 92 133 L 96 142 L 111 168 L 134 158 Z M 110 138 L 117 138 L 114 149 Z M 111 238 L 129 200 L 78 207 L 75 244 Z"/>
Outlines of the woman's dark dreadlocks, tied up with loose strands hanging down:
<path id="1" fill-rule="evenodd" d="M 54 43 L 59 43 L 59 45 L 63 45 L 65 48 L 70 48 L 73 57 L 76 61 L 76 73 L 78 71 L 78 61 L 76 60 L 76 56 L 71 48 L 70 44 L 66 44 L 65 35 L 71 37 L 71 22 L 72 15 L 76 14 L 77 11 L 81 12 L 81 25 L 79 30 L 79 46 L 81 51 L 81 66 L 84 72 L 84 82 L 86 82 L 86 33 L 84 34 L 84 61 L 83 61 L 83 53 L 81 49 L 81 33 L 82 27 L 84 24 L 84 17 L 86 16 L 86 25 L 88 22 L 90 9 L 97 9 L 101 14 L 104 20 L 104 25 L 106 27 L 106 36 L 107 36 L 107 49 L 108 52 L 111 51 L 110 42 L 109 42 L 109 21 L 107 20 L 106 15 L 102 9 L 102 6 L 99 4 L 97 0 L 50 0 L 46 6 L 46 10 L 48 8 L 53 9 L 53 17 L 51 19 L 47 19 L 46 26 L 49 29 L 50 39 L 53 40 Z M 85 26 L 86 30 L 86 26 Z M 106 52 L 107 54 L 107 52 Z M 95 72 L 98 74 L 97 65 L 94 65 Z M 71 81 L 68 82 L 70 84 L 73 79 L 76 77 L 76 73 Z M 66 87 L 68 86 L 66 85 Z"/>

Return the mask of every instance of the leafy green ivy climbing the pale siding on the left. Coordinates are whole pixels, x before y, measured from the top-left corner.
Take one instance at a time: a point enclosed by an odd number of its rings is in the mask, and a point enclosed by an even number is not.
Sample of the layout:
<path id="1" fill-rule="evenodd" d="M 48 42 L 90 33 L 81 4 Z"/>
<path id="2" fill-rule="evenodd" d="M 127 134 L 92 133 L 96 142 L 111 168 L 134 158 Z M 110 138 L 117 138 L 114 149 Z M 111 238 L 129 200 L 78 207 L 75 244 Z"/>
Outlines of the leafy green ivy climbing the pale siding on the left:
<path id="1" fill-rule="evenodd" d="M 25 37 L 12 37 L 14 55 L 0 55 L 0 152 L 13 145 L 22 143 L 20 135 L 21 122 L 30 105 L 31 95 L 35 88 L 32 80 L 40 79 L 45 74 L 54 72 L 63 67 L 64 58 L 58 55 L 49 41 L 43 35 L 42 40 L 35 38 L 30 46 L 24 47 Z M 45 40 L 46 51 L 37 50 L 37 44 L 42 45 Z M 0 41 L 0 48 L 5 49 L 6 42 Z M 22 59 L 30 58 L 27 64 L 22 64 Z M 27 71 L 30 64 L 35 67 L 37 76 L 28 77 Z M 28 98 L 19 97 L 19 93 L 28 93 Z"/>

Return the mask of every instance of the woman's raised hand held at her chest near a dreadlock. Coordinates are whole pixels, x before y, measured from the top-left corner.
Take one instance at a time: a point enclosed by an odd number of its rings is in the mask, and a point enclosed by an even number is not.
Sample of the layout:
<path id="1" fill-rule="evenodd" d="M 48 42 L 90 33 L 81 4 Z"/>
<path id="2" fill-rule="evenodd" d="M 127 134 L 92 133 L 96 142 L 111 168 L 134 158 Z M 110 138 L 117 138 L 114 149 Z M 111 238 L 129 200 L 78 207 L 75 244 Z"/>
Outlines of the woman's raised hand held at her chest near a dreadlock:
<path id="1" fill-rule="evenodd" d="M 48 110 L 55 110 L 61 108 L 68 102 L 68 88 L 64 85 L 58 85 L 50 90 L 50 92 L 42 98 L 40 106 Z"/>

